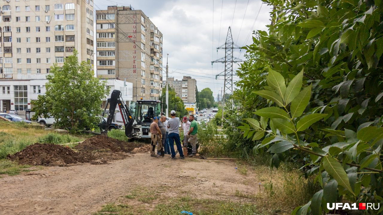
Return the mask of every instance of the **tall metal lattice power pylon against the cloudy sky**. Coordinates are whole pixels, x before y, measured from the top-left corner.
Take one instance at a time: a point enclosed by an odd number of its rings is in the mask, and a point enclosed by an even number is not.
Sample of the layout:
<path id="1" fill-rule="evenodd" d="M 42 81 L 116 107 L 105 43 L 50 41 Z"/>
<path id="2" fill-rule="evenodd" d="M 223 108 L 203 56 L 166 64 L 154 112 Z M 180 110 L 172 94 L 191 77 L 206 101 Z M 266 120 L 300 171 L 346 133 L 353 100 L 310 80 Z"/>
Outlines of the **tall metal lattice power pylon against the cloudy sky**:
<path id="1" fill-rule="evenodd" d="M 225 76 L 224 84 L 223 84 L 223 94 L 222 94 L 222 122 L 223 122 L 223 109 L 225 106 L 225 95 L 233 94 L 233 63 L 243 62 L 241 59 L 237 57 L 233 57 L 234 49 L 241 49 L 241 47 L 237 46 L 233 43 L 233 37 L 231 35 L 231 28 L 229 26 L 228 35 L 226 36 L 226 43 L 222 46 L 219 46 L 218 49 L 225 49 L 225 57 L 217 59 L 215 61 L 211 61 L 211 66 L 213 63 L 224 63 L 225 71 L 216 75 L 216 79 L 218 76 Z M 223 73 L 223 74 L 222 74 Z M 234 102 L 231 99 L 231 105 L 234 107 Z"/>

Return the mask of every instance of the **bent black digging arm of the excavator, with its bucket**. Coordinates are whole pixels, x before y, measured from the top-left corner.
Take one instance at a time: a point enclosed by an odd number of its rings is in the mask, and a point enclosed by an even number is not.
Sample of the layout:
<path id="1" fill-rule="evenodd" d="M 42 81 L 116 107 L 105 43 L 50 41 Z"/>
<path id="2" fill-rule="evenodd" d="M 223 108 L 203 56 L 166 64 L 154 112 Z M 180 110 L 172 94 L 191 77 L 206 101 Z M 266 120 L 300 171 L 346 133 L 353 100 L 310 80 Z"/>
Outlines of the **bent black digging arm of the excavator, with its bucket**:
<path id="1" fill-rule="evenodd" d="M 113 122 L 116 106 L 118 105 L 125 126 L 125 135 L 128 138 L 138 138 L 139 136 L 141 136 L 141 126 L 138 126 L 136 121 L 132 118 L 132 115 L 130 114 L 128 107 L 126 107 L 126 105 L 124 104 L 124 100 L 122 99 L 121 95 L 121 91 L 113 90 L 111 97 L 108 98 L 108 100 L 106 101 L 105 109 L 101 115 L 101 120 L 99 124 L 101 135 L 108 136 L 108 128 Z M 101 121 L 104 118 L 108 104 L 109 113 L 106 120 L 106 124 L 102 124 Z"/>

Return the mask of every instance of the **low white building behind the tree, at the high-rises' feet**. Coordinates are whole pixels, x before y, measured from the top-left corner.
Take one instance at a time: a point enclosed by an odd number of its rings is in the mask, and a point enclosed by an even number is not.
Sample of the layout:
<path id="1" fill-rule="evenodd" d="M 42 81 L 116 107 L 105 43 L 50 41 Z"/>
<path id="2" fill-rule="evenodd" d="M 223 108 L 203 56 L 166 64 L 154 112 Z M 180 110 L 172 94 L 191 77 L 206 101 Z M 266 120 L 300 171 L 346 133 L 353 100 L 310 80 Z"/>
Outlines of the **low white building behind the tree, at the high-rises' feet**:
<path id="1" fill-rule="evenodd" d="M 38 95 L 45 94 L 46 82 L 46 79 L 2 80 L 0 82 L 0 111 L 31 109 L 31 101 L 37 100 Z M 126 104 L 132 100 L 133 83 L 112 79 L 106 80 L 106 86 L 110 88 L 110 93 L 115 89 L 120 90 Z"/>

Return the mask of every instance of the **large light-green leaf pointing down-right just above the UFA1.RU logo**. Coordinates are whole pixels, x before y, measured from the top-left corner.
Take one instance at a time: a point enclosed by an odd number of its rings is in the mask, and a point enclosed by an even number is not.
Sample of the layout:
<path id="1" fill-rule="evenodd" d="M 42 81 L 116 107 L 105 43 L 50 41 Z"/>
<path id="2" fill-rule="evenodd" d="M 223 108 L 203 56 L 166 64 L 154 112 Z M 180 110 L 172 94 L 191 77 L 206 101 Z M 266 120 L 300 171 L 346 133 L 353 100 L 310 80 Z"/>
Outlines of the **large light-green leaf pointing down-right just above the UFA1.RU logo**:
<path id="1" fill-rule="evenodd" d="M 355 195 L 354 191 L 351 189 L 349 177 L 347 177 L 347 174 L 339 161 L 330 156 L 324 156 L 322 162 L 324 169 L 338 182 L 338 184 Z"/>

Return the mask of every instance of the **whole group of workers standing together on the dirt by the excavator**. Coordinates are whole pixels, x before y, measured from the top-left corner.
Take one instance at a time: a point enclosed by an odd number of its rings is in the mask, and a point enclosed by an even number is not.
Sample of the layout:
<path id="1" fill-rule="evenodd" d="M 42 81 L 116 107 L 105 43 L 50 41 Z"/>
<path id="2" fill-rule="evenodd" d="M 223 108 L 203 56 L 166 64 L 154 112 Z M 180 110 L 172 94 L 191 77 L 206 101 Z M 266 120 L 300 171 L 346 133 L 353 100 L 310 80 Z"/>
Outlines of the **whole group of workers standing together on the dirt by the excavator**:
<path id="1" fill-rule="evenodd" d="M 193 157 L 197 153 L 198 149 L 198 124 L 194 119 L 194 115 L 190 115 L 189 118 L 183 117 L 182 129 L 183 129 L 183 146 L 181 146 L 180 140 L 180 119 L 175 117 L 175 111 L 170 112 L 171 119 L 167 120 L 165 115 L 161 117 L 154 117 L 153 122 L 150 125 L 151 133 L 151 148 L 150 155 L 152 157 L 162 156 L 170 154 L 172 159 L 176 159 L 177 152 L 180 154 L 181 159 L 185 159 L 183 154 L 183 148 L 188 148 L 188 157 Z M 177 147 L 177 152 L 174 150 L 174 143 Z M 155 154 L 155 147 L 157 146 L 157 154 Z"/>

